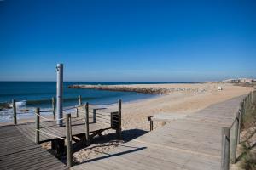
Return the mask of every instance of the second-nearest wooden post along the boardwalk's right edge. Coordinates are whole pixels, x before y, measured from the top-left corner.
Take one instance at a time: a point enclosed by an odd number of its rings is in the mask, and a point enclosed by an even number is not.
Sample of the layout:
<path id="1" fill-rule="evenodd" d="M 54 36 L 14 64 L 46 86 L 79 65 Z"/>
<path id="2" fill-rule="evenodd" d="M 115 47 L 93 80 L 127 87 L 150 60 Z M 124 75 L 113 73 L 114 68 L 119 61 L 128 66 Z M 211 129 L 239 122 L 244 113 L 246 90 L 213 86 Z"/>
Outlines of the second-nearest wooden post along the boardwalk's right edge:
<path id="1" fill-rule="evenodd" d="M 239 133 L 239 115 L 240 111 L 236 112 L 236 119 L 231 127 L 231 135 L 230 135 L 230 161 L 231 163 L 236 163 L 236 147 Z"/>

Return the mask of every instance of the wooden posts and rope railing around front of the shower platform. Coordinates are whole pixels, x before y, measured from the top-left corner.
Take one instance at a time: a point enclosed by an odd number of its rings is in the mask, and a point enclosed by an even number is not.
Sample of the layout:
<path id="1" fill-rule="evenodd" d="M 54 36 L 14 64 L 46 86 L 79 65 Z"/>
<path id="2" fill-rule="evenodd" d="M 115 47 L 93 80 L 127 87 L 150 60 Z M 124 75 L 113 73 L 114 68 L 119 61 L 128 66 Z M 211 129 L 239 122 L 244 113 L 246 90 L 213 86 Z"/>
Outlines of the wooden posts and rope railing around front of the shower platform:
<path id="1" fill-rule="evenodd" d="M 108 111 L 105 111 L 105 113 L 109 113 L 109 122 L 105 121 L 105 123 L 109 123 L 109 128 L 112 128 L 114 130 L 116 130 L 116 133 L 117 133 L 117 136 L 119 138 L 121 138 L 121 100 L 119 99 L 118 101 L 118 111 L 112 111 L 110 112 L 110 110 L 107 108 L 107 107 L 100 107 L 100 108 L 96 108 L 96 109 L 93 109 L 92 112 L 90 111 L 89 107 L 89 103 L 86 102 L 85 105 L 79 105 L 79 106 L 76 106 L 76 116 L 73 116 L 72 117 L 72 113 L 68 113 L 66 114 L 66 117 L 63 117 L 61 120 L 66 120 L 66 123 L 65 123 L 65 126 L 66 126 L 66 134 L 65 134 L 65 137 L 61 137 L 61 136 L 56 136 L 55 134 L 52 134 L 51 132 L 45 132 L 44 131 L 41 131 L 40 129 L 40 118 L 43 118 L 45 119 L 46 121 L 56 121 L 55 119 L 50 119 L 49 117 L 45 117 L 45 116 L 42 116 L 40 115 L 41 112 L 44 112 L 44 111 L 40 111 L 40 108 L 36 108 L 35 110 L 35 143 L 37 144 L 40 144 L 40 133 L 44 133 L 44 135 L 48 135 L 48 136 L 51 136 L 55 139 L 62 139 L 65 141 L 66 143 L 66 148 L 67 148 L 67 167 L 72 167 L 73 166 L 73 144 L 72 144 L 72 119 L 73 118 L 77 118 L 79 117 L 79 114 L 78 114 L 78 111 L 80 113 L 80 116 L 81 114 L 84 115 L 84 116 L 81 116 L 84 118 L 84 132 L 81 132 L 81 133 L 85 133 L 85 142 L 86 142 L 86 145 L 90 145 L 90 138 L 92 138 L 90 136 L 90 121 L 89 119 L 92 118 L 93 119 L 93 122 L 96 123 L 97 121 L 98 122 L 101 122 L 102 120 L 102 113 L 100 112 L 96 112 L 96 111 L 99 111 L 99 110 L 108 110 Z M 84 110 L 81 109 L 81 107 L 84 107 Z M 92 114 L 92 116 L 89 116 L 89 114 Z M 106 114 L 105 114 L 106 116 Z M 105 119 L 106 120 L 106 119 Z M 74 120 L 75 121 L 75 120 Z M 57 124 L 56 124 L 57 125 Z M 52 126 L 51 126 L 52 127 Z M 57 128 L 57 126 L 56 126 Z M 45 129 L 45 127 L 44 127 Z M 101 130 L 101 129 L 99 129 Z"/>

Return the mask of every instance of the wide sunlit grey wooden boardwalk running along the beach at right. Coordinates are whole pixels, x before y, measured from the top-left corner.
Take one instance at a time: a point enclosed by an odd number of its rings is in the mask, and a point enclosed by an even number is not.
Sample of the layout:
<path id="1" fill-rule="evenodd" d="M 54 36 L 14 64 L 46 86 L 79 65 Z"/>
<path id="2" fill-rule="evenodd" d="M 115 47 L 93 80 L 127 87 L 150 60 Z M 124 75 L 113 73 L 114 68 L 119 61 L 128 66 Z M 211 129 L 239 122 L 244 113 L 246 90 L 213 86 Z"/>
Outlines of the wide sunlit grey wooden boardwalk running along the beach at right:
<path id="1" fill-rule="evenodd" d="M 111 153 L 98 156 L 73 170 L 187 169 L 218 170 L 221 127 L 230 127 L 244 96 L 211 105 L 182 119 L 167 122 Z"/>

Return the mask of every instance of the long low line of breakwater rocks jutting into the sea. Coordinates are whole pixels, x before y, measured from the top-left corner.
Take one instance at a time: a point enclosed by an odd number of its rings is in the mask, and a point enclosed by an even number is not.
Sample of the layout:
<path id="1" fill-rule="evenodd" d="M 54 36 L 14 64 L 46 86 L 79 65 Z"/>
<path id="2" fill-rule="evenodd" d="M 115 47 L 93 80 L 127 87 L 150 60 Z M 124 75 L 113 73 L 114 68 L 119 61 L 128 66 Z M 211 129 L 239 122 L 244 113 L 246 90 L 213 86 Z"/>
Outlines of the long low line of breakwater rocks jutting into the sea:
<path id="1" fill-rule="evenodd" d="M 189 92 L 189 93 L 202 93 L 206 89 L 199 88 L 140 88 L 133 86 L 125 85 L 71 85 L 68 88 L 86 88 L 86 89 L 97 89 L 97 90 L 109 90 L 109 91 L 121 91 L 121 92 L 137 92 L 143 94 L 170 94 L 172 92 Z"/>

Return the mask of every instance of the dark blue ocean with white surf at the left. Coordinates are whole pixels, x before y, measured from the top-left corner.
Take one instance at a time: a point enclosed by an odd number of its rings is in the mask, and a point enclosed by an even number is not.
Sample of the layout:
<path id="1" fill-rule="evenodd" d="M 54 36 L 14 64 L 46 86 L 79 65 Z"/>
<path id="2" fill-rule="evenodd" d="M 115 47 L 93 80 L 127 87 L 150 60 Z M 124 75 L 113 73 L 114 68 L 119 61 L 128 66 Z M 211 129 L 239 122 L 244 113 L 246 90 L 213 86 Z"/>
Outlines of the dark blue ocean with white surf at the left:
<path id="1" fill-rule="evenodd" d="M 82 96 L 83 103 L 108 104 L 122 99 L 123 102 L 134 101 L 137 99 L 148 99 L 156 94 L 139 94 L 134 92 L 115 92 L 95 89 L 74 89 L 68 88 L 73 84 L 92 84 L 92 85 L 116 85 L 116 84 L 150 84 L 165 82 L 64 82 L 63 83 L 63 105 L 64 107 L 78 105 L 78 96 Z M 40 107 L 49 109 L 51 99 L 56 95 L 56 82 L 0 82 L 0 103 L 11 103 L 16 101 L 26 101 L 26 112 L 18 111 L 18 119 L 32 118 L 33 109 Z M 51 114 L 51 113 L 49 113 Z M 2 109 L 0 111 L 0 122 L 11 122 L 12 110 Z"/>

